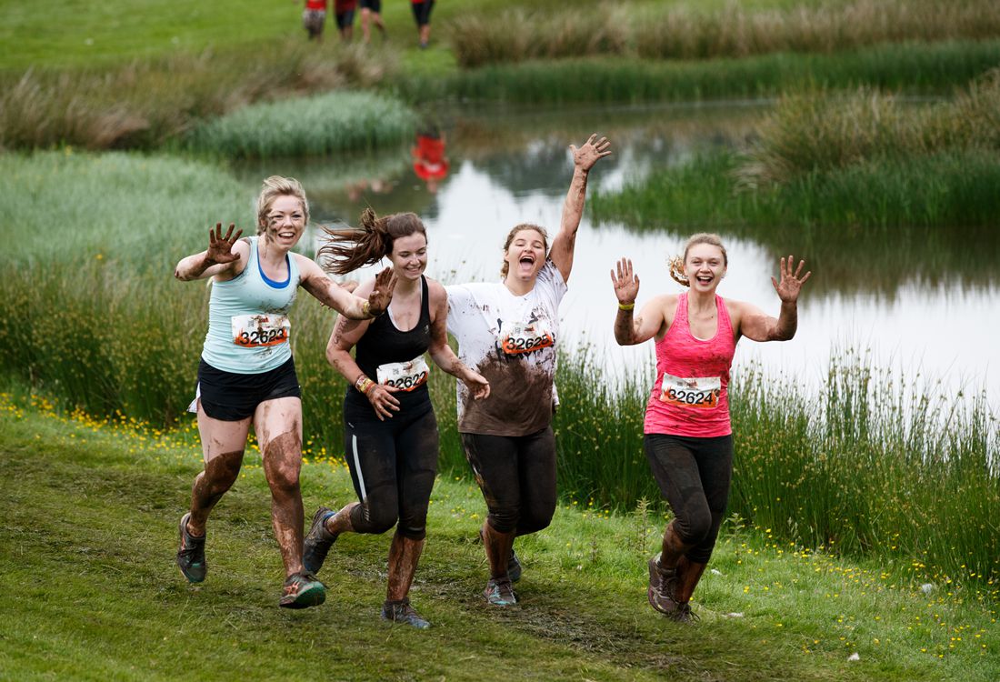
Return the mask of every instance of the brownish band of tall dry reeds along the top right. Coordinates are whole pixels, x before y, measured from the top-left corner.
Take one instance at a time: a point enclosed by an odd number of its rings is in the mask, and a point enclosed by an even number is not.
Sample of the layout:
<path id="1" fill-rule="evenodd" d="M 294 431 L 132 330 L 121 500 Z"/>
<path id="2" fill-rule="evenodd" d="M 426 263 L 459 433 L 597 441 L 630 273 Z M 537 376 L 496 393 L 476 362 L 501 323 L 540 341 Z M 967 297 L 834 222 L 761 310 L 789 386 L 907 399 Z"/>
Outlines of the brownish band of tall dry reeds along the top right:
<path id="1" fill-rule="evenodd" d="M 855 0 L 818 6 L 704 10 L 607 3 L 580 11 L 514 8 L 455 19 L 449 41 L 466 68 L 595 55 L 643 59 L 744 58 L 776 52 L 831 53 L 881 43 L 983 40 L 1000 36 L 988 0 Z"/>

